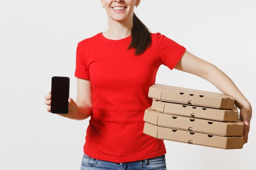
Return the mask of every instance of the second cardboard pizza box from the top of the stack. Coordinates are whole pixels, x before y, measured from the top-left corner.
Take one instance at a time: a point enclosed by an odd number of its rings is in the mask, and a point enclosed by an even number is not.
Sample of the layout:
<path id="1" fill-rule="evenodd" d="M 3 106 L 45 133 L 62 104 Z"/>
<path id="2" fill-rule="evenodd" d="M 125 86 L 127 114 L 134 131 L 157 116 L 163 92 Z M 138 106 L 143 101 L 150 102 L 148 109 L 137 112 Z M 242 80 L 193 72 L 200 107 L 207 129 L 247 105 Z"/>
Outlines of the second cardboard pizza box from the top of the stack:
<path id="1" fill-rule="evenodd" d="M 236 106 L 234 106 L 232 110 L 223 110 L 216 108 L 206 108 L 202 106 L 162 102 L 160 100 L 153 99 L 151 108 L 159 112 L 173 115 L 197 117 L 201 119 L 211 119 L 216 121 L 238 121 L 238 109 Z"/>

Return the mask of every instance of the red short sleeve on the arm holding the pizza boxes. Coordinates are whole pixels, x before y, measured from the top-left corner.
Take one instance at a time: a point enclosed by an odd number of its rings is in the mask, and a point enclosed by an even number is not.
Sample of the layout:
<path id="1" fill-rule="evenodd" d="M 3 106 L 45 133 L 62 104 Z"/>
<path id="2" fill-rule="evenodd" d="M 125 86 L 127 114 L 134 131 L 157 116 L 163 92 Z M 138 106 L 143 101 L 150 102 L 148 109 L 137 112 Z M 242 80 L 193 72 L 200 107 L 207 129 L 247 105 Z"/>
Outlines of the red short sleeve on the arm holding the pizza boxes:
<path id="1" fill-rule="evenodd" d="M 171 70 L 176 66 L 186 51 L 184 46 L 181 46 L 161 33 L 157 33 L 157 49 L 159 62 Z"/>

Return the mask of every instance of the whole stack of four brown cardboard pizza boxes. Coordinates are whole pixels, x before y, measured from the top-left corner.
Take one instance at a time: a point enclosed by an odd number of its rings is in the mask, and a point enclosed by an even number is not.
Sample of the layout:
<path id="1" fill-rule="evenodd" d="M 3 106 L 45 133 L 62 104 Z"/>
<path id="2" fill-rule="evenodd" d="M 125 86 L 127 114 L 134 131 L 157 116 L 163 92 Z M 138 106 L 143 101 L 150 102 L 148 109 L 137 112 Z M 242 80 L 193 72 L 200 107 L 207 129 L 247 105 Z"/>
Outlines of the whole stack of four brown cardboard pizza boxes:
<path id="1" fill-rule="evenodd" d="M 158 139 L 222 149 L 243 148 L 243 121 L 231 96 L 153 84 L 144 133 Z"/>

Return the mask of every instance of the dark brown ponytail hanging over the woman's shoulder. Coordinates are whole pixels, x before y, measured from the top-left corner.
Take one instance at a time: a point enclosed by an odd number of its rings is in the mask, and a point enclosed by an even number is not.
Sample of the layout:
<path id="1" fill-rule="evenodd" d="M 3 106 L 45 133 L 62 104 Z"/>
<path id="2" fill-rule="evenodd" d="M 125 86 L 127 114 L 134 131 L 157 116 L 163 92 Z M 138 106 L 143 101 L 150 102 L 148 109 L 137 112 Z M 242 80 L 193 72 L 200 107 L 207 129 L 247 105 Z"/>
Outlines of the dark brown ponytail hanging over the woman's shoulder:
<path id="1" fill-rule="evenodd" d="M 135 48 L 135 55 L 140 55 L 151 45 L 151 31 L 144 25 L 133 12 L 132 41 L 128 49 Z"/>

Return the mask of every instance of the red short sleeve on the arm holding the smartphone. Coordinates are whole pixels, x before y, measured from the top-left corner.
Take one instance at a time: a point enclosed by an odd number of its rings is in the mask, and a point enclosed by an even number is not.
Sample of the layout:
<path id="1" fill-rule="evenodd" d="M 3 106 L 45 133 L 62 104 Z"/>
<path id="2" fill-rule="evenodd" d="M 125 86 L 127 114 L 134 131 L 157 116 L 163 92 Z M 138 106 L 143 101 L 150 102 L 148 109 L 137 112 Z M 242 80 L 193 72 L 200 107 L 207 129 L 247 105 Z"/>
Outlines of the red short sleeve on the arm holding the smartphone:
<path id="1" fill-rule="evenodd" d="M 86 58 L 79 43 L 77 44 L 77 47 L 76 47 L 75 77 L 82 78 L 82 79 L 90 79 Z"/>

